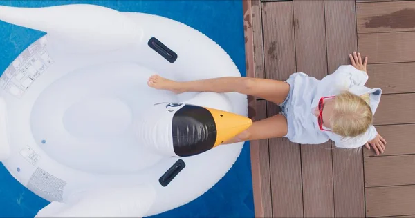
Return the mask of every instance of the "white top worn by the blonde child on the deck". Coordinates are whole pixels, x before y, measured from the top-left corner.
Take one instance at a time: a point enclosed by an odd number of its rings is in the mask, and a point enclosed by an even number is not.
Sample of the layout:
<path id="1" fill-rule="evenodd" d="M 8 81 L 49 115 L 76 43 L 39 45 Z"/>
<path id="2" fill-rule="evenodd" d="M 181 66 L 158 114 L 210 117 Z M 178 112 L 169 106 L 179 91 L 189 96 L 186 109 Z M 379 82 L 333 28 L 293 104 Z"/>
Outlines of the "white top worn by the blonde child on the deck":
<path id="1" fill-rule="evenodd" d="M 357 70 L 351 65 L 340 66 L 333 74 L 321 80 L 310 77 L 303 72 L 296 72 L 288 79 L 292 93 L 289 103 L 288 134 L 286 137 L 295 143 L 320 144 L 329 139 L 335 142 L 338 148 L 358 148 L 367 141 L 374 139 L 378 134 L 371 125 L 365 134 L 353 138 L 343 139 L 333 132 L 322 131 L 318 127 L 317 117 L 312 109 L 317 107 L 321 97 L 338 95 L 345 90 L 356 95 L 369 93 L 370 107 L 375 114 L 380 102 L 382 90 L 367 88 L 365 83 L 369 79 L 366 72 Z"/>

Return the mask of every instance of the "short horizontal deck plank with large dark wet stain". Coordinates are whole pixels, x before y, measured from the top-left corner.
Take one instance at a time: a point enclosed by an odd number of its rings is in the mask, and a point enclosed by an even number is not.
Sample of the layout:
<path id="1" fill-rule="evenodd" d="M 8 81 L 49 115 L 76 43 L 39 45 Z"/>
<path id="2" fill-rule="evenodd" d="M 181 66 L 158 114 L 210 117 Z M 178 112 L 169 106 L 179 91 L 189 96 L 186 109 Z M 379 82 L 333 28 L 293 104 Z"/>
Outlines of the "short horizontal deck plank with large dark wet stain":
<path id="1" fill-rule="evenodd" d="M 415 30 L 415 1 L 357 4 L 358 33 Z"/>

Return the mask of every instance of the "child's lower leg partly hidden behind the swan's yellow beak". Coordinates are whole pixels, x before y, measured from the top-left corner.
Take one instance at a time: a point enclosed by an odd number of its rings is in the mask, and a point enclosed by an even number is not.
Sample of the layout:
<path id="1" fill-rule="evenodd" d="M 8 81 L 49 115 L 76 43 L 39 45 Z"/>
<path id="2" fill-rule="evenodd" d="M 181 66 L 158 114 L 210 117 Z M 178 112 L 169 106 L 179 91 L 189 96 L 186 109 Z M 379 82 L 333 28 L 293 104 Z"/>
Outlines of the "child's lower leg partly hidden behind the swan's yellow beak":
<path id="1" fill-rule="evenodd" d="M 288 126 L 286 117 L 284 117 L 284 115 L 275 115 L 252 123 L 250 128 L 222 144 L 278 138 L 283 137 L 287 132 Z"/>

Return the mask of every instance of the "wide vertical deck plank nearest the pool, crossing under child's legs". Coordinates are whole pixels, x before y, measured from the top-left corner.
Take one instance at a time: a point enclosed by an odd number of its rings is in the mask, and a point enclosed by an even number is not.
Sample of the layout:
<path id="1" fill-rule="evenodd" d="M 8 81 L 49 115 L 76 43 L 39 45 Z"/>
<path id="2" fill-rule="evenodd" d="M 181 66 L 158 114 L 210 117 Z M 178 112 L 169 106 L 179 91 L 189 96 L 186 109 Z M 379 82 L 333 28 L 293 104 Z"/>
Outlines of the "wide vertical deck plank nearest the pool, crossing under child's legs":
<path id="1" fill-rule="evenodd" d="M 264 59 L 268 79 L 285 80 L 295 72 L 293 2 L 262 4 Z M 279 111 L 267 104 L 268 117 Z M 286 138 L 270 139 L 273 217 L 302 217 L 302 177 L 299 145 Z"/>

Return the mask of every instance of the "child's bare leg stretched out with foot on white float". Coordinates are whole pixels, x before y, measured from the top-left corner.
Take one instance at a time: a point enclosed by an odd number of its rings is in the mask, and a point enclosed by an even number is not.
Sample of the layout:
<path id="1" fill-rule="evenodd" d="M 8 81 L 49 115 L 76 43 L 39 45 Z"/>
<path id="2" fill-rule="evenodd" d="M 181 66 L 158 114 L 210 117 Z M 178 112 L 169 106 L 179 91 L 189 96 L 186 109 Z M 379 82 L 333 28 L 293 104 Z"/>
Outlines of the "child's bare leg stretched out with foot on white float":
<path id="1" fill-rule="evenodd" d="M 282 103 L 290 91 L 290 85 L 284 81 L 259 79 L 252 77 L 219 77 L 196 81 L 177 82 L 158 75 L 149 78 L 148 85 L 172 92 L 239 92 Z"/>

